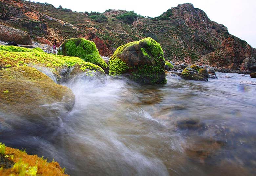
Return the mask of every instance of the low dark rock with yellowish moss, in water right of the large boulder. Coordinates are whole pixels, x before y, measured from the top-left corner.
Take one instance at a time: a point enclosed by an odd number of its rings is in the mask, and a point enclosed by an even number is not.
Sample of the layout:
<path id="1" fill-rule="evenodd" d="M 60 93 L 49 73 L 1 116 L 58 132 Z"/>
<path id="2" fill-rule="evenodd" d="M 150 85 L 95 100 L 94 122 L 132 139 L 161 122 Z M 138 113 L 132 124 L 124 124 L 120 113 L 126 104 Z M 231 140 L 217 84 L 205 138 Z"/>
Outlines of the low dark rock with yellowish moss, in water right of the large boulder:
<path id="1" fill-rule="evenodd" d="M 196 65 L 191 65 L 182 71 L 181 78 L 196 81 L 208 81 L 209 74 L 206 69 L 200 69 L 200 67 Z"/>

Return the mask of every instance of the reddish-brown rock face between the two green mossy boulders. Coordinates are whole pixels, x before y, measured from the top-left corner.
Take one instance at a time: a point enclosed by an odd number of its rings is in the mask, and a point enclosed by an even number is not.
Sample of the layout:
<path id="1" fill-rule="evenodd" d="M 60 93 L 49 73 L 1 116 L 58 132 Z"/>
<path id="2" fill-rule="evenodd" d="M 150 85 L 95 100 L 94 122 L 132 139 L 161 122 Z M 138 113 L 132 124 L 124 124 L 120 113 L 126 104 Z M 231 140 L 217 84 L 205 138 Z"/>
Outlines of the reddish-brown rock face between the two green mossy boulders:
<path id="1" fill-rule="evenodd" d="M 100 56 L 108 56 L 110 57 L 113 52 L 107 47 L 103 40 L 97 37 L 94 33 L 90 32 L 85 37 L 87 40 L 93 41 L 96 44 L 96 47 L 99 50 Z"/>

